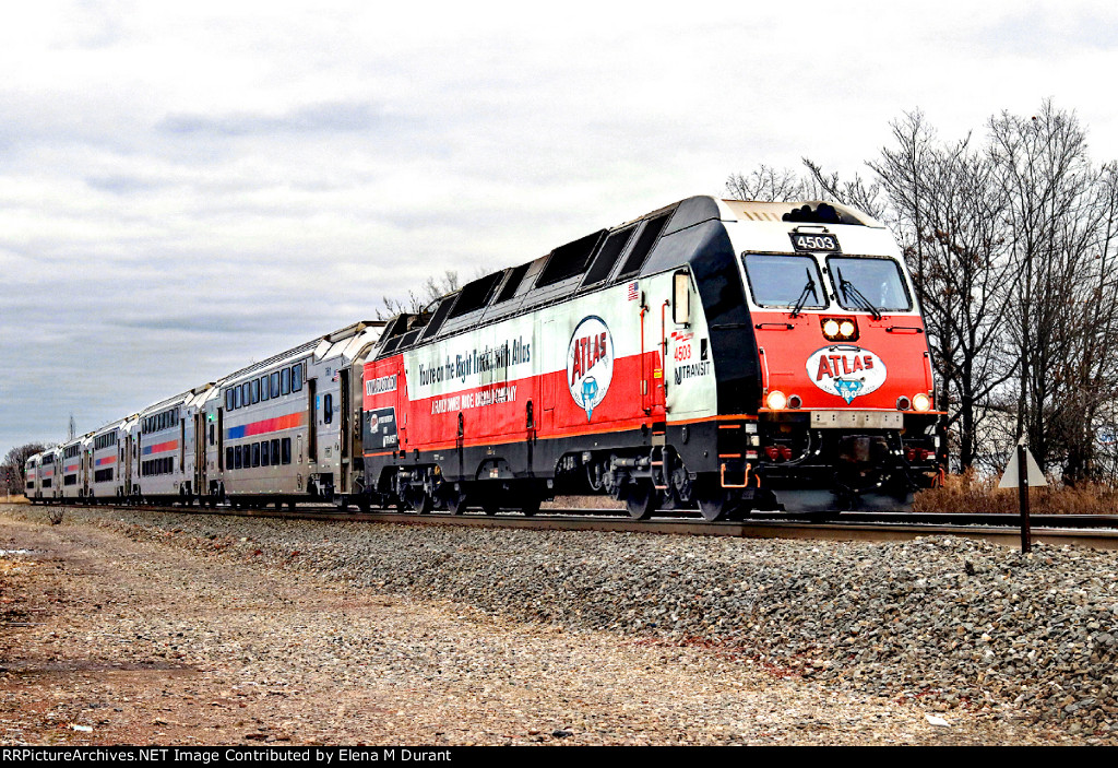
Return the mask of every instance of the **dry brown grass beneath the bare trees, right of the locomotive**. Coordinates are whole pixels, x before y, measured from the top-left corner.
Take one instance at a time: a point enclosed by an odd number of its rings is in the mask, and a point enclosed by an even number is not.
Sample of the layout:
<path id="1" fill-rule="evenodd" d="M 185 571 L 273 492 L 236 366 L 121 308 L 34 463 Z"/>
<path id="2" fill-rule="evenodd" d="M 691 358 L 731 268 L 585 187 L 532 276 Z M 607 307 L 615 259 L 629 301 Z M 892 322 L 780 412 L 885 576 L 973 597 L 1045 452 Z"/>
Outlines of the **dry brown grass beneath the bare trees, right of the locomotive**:
<path id="1" fill-rule="evenodd" d="M 1017 490 L 998 490 L 997 477 L 978 477 L 973 472 L 948 475 L 942 487 L 921 491 L 913 512 L 974 512 L 1017 514 Z M 1032 514 L 1118 514 L 1118 487 L 1083 484 L 1069 487 L 1053 483 L 1032 489 Z"/>

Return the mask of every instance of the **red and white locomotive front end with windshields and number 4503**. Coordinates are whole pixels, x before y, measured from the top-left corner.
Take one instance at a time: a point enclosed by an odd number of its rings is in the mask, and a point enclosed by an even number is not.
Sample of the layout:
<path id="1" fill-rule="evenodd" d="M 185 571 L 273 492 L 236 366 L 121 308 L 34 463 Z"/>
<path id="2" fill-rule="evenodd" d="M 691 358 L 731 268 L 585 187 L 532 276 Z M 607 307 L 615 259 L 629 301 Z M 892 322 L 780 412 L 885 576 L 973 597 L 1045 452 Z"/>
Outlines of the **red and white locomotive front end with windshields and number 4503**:
<path id="1" fill-rule="evenodd" d="M 737 342 L 714 343 L 717 410 L 741 416 L 716 438 L 722 489 L 755 509 L 908 508 L 937 476 L 939 414 L 892 236 L 825 202 L 723 205 L 742 312 Z M 733 391 L 721 363 L 742 354 Z"/>

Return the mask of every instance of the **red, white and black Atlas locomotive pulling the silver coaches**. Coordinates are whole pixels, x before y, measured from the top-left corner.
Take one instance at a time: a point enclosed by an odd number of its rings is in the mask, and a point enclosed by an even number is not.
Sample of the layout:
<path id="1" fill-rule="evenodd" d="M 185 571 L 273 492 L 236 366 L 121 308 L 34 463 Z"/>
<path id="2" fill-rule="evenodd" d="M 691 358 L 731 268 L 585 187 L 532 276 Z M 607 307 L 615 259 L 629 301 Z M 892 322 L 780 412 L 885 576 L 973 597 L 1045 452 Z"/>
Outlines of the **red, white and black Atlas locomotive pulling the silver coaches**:
<path id="1" fill-rule="evenodd" d="M 888 230 L 697 197 L 401 315 L 364 366 L 368 501 L 634 518 L 903 508 L 934 482 L 923 322 Z"/>

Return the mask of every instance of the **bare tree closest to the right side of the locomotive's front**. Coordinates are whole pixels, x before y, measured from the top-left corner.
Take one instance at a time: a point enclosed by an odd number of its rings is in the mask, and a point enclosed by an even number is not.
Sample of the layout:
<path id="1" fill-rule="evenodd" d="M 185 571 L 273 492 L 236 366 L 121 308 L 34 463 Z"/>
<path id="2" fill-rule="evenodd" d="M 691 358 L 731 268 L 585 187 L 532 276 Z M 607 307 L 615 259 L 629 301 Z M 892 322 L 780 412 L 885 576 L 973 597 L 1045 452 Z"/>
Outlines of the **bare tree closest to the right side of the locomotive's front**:
<path id="1" fill-rule="evenodd" d="M 991 397 L 1013 374 L 1001 354 L 1016 265 L 1005 196 L 970 136 L 941 143 L 913 112 L 893 124 L 896 148 L 871 161 L 927 320 L 958 468 L 979 456 Z"/>

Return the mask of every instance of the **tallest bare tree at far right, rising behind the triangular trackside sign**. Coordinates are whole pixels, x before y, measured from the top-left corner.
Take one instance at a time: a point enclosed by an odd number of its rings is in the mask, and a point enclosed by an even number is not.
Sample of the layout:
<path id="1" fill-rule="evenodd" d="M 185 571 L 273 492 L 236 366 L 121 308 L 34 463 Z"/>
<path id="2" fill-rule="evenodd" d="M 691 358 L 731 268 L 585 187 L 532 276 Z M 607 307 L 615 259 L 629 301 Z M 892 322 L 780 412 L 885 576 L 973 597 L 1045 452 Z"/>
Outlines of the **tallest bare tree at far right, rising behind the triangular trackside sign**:
<path id="1" fill-rule="evenodd" d="M 989 141 L 1018 264 L 1010 325 L 1017 434 L 1041 466 L 1062 465 L 1074 482 L 1093 472 L 1091 421 L 1114 397 L 1111 192 L 1090 163 L 1078 118 L 1051 102 L 1032 117 L 993 117 Z"/>

